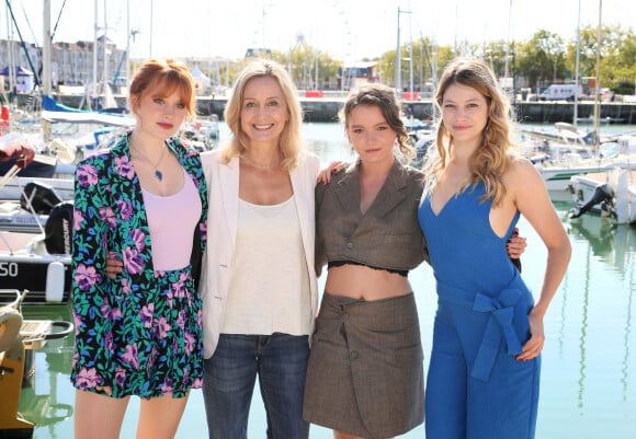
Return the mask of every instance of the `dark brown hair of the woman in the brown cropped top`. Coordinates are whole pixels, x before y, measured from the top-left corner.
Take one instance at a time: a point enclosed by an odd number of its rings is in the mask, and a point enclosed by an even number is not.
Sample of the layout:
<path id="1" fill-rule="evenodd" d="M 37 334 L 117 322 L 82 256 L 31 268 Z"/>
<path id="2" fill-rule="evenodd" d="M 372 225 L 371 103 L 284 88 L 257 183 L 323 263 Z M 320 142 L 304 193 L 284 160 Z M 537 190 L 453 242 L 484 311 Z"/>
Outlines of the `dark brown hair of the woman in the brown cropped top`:
<path id="1" fill-rule="evenodd" d="M 402 119 L 402 111 L 395 90 L 381 83 L 368 83 L 353 90 L 340 109 L 340 120 L 349 127 L 351 112 L 359 105 L 374 105 L 379 108 L 386 123 L 396 134 L 397 148 L 407 159 L 412 160 L 416 150 L 408 143 L 409 135 Z"/>

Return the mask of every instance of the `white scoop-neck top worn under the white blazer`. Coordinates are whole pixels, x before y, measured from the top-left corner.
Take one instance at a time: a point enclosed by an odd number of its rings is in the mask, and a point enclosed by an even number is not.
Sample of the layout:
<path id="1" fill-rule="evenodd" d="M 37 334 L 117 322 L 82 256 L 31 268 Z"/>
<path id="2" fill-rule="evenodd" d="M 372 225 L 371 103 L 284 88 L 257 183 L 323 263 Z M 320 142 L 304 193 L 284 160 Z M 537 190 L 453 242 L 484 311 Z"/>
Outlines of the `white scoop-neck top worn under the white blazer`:
<path id="1" fill-rule="evenodd" d="M 225 334 L 309 334 L 309 273 L 293 196 L 273 206 L 239 200 L 226 302 Z"/>

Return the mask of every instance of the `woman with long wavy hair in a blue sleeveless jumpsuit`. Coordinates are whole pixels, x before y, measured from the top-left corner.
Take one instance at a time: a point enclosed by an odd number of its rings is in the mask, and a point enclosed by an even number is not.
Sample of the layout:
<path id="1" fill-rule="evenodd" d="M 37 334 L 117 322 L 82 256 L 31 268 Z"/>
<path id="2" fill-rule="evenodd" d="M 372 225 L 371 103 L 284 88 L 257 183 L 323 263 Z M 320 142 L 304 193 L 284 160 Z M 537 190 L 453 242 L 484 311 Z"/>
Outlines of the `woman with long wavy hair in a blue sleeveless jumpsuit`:
<path id="1" fill-rule="evenodd" d="M 438 290 L 427 438 L 533 438 L 543 317 L 569 241 L 541 175 L 511 153 L 509 104 L 489 68 L 451 63 L 435 100 L 442 118 L 418 213 Z M 547 247 L 536 303 L 504 250 L 520 213 Z"/>

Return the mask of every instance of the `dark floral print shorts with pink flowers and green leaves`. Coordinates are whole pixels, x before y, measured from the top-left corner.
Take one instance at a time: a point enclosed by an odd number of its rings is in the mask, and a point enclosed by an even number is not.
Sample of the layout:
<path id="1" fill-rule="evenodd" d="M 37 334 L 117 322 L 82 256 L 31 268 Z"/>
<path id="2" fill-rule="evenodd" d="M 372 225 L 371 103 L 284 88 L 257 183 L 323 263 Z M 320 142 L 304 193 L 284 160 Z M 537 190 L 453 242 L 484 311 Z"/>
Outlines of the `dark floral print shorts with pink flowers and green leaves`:
<path id="1" fill-rule="evenodd" d="M 77 389 L 113 397 L 185 396 L 203 378 L 201 297 L 190 266 L 155 272 L 151 290 L 125 278 L 107 294 L 75 291 Z"/>

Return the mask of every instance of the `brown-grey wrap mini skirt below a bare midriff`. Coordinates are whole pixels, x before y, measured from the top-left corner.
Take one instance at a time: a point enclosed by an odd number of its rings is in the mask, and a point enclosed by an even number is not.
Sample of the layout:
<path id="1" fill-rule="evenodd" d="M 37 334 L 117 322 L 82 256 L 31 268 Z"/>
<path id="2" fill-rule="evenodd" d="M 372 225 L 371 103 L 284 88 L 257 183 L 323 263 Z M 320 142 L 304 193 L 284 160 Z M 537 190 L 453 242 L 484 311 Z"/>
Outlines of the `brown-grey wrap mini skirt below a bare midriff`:
<path id="1" fill-rule="evenodd" d="M 423 423 L 423 353 L 412 292 L 374 301 L 325 292 L 311 340 L 305 420 L 373 439 Z"/>

